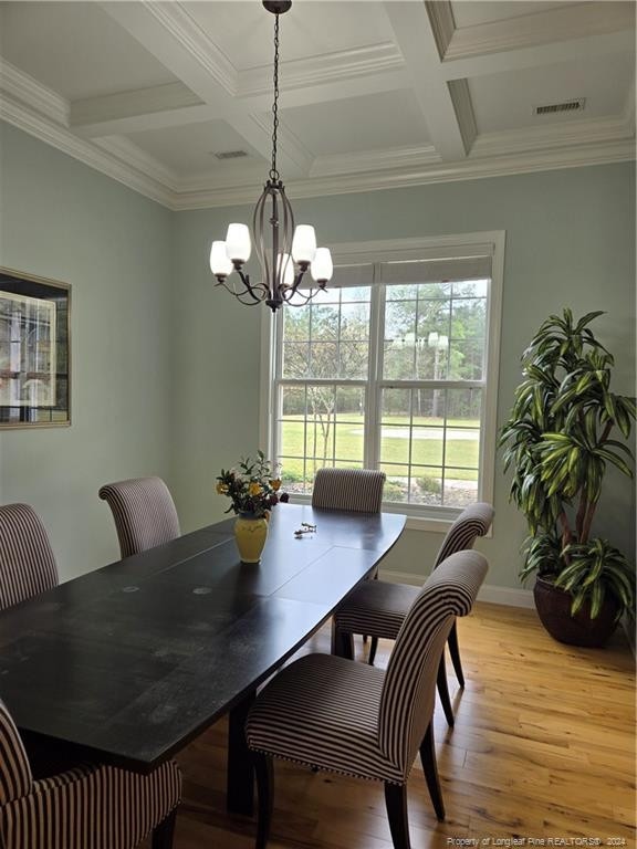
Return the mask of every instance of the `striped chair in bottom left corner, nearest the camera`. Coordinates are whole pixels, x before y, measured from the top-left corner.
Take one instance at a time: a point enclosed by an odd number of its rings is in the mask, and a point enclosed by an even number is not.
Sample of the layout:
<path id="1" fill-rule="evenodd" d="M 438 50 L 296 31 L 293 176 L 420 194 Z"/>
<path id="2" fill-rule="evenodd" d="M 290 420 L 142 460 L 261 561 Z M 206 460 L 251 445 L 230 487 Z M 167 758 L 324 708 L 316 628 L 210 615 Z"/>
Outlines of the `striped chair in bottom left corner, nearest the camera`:
<path id="1" fill-rule="evenodd" d="M 0 701 L 3 849 L 134 849 L 150 831 L 153 849 L 170 849 L 180 793 L 173 761 L 148 775 L 84 764 L 35 779 Z"/>

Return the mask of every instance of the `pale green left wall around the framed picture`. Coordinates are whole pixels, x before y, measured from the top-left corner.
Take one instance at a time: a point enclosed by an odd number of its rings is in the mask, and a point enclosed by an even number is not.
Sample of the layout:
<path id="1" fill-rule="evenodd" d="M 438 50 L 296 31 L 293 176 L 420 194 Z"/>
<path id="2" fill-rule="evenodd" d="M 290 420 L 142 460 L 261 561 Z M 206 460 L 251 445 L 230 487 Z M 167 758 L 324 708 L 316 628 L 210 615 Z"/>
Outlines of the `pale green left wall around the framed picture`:
<path id="1" fill-rule="evenodd" d="M 0 432 L 0 502 L 44 522 L 61 577 L 118 558 L 102 483 L 169 480 L 171 212 L 0 124 L 0 265 L 72 285 L 72 424 Z"/>

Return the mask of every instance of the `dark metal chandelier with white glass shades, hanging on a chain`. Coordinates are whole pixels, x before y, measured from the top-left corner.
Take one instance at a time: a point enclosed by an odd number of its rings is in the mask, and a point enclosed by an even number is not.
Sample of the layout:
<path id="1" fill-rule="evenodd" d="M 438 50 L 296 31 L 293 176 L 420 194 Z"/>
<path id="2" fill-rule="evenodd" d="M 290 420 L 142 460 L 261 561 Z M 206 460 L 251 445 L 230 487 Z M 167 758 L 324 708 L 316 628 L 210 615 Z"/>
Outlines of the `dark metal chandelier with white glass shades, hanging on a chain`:
<path id="1" fill-rule="evenodd" d="M 262 280 L 251 283 L 243 265 L 250 259 L 251 240 L 247 224 L 228 227 L 226 241 L 212 242 L 210 270 L 217 285 L 227 289 L 242 304 L 265 304 L 276 312 L 284 303 L 302 306 L 332 277 L 332 256 L 327 248 L 316 247 L 316 234 L 311 224 L 294 227 L 292 207 L 276 169 L 276 134 L 279 129 L 279 15 L 286 12 L 292 0 L 263 0 L 263 6 L 275 17 L 274 22 L 274 102 L 272 104 L 272 160 L 263 192 L 257 201 L 252 217 L 252 232 Z M 303 275 L 310 269 L 316 289 L 301 290 Z M 230 286 L 226 279 L 232 277 Z M 239 277 L 239 280 L 237 280 Z"/>

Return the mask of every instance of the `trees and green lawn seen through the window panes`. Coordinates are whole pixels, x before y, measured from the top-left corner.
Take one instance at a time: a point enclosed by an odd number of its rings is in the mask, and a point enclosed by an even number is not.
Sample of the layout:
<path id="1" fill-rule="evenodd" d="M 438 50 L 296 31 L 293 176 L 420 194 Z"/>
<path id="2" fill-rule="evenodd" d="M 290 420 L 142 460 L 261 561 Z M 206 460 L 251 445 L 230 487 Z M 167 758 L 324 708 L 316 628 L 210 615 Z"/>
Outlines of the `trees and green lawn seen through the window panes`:
<path id="1" fill-rule="evenodd" d="M 274 431 L 288 491 L 311 492 L 324 465 L 365 467 L 386 472 L 386 501 L 476 501 L 488 286 L 344 286 L 284 311 Z"/>

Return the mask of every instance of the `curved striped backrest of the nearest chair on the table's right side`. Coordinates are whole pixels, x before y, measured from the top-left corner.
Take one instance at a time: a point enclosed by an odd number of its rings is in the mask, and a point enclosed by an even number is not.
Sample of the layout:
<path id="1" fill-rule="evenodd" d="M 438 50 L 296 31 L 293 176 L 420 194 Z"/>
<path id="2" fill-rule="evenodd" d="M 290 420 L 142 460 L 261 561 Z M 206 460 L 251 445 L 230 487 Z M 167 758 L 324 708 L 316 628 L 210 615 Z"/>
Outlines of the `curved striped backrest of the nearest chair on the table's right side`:
<path id="1" fill-rule="evenodd" d="M 448 557 L 427 578 L 396 638 L 380 696 L 378 742 L 405 779 L 434 715 L 447 637 L 456 617 L 471 610 L 487 569 L 479 552 Z"/>

